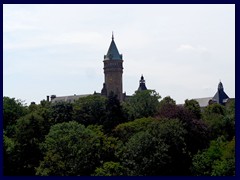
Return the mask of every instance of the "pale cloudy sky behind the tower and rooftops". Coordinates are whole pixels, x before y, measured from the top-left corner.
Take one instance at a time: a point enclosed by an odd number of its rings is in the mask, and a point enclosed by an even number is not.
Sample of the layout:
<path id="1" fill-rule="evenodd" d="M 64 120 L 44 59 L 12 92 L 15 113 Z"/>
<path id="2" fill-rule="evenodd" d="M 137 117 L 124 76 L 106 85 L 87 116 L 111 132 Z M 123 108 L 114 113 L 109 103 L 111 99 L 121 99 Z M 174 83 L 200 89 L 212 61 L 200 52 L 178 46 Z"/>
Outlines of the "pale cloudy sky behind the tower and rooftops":
<path id="1" fill-rule="evenodd" d="M 101 92 L 112 31 L 123 54 L 123 92 L 148 89 L 177 104 L 235 97 L 235 5 L 3 5 L 3 96 Z"/>

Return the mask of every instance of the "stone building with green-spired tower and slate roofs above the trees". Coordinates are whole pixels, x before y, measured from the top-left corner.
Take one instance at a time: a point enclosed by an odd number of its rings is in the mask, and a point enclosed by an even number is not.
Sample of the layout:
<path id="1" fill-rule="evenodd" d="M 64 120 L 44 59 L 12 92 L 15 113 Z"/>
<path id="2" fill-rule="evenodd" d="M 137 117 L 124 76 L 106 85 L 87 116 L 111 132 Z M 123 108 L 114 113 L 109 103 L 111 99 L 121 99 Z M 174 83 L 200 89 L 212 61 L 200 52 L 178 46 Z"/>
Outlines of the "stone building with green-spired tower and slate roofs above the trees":
<path id="1" fill-rule="evenodd" d="M 120 101 L 125 101 L 129 97 L 126 93 L 123 93 L 123 55 L 119 53 L 114 37 L 112 35 L 112 40 L 108 48 L 107 54 L 103 58 L 103 72 L 104 72 L 104 83 L 101 90 L 101 93 L 94 92 L 93 94 L 98 94 L 102 96 L 109 96 L 112 92 L 117 95 Z M 139 81 L 139 87 L 137 91 L 147 90 L 145 79 L 143 75 Z M 86 97 L 93 94 L 84 94 L 84 95 L 69 95 L 69 96 L 56 96 L 51 95 L 50 99 L 47 96 L 47 101 L 51 102 L 74 102 L 75 100 Z M 208 106 L 211 103 L 219 103 L 225 105 L 229 100 L 231 100 L 228 95 L 224 92 L 222 82 L 219 82 L 217 92 L 213 97 L 197 98 L 196 100 L 200 107 Z"/>

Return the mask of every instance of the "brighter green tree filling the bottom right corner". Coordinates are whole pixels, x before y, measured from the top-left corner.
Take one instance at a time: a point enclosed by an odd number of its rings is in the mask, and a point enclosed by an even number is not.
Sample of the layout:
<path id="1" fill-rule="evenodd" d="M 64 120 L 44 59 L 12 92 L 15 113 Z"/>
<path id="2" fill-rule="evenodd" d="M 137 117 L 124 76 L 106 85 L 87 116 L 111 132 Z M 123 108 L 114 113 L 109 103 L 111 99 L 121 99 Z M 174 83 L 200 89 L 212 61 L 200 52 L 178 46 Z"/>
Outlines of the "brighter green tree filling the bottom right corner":
<path id="1" fill-rule="evenodd" d="M 235 140 L 224 141 L 223 137 L 211 142 L 210 147 L 193 157 L 194 175 L 235 175 Z"/>

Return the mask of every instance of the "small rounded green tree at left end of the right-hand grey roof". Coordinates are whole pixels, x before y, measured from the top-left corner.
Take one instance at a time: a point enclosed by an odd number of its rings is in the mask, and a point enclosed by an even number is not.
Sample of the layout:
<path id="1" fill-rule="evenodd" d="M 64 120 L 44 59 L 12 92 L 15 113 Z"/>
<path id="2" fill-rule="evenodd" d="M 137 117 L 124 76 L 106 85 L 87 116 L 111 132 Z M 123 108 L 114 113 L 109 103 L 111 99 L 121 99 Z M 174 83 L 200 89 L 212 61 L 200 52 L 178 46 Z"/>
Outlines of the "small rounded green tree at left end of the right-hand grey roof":
<path id="1" fill-rule="evenodd" d="M 200 119 L 201 118 L 201 108 L 199 106 L 199 103 L 196 100 L 194 100 L 194 99 L 191 99 L 191 100 L 186 99 L 184 107 L 186 109 L 188 109 L 194 115 L 194 117 L 196 119 Z"/>

